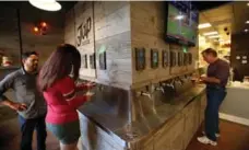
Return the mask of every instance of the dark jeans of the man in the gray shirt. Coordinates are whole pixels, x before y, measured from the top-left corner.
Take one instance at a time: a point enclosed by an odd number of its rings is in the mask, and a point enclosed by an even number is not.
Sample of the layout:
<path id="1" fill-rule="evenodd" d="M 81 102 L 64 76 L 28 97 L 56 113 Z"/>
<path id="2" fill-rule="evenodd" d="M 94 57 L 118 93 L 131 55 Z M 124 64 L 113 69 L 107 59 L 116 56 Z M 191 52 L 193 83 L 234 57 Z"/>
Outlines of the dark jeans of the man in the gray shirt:
<path id="1" fill-rule="evenodd" d="M 45 116 L 38 118 L 25 119 L 19 116 L 22 131 L 21 150 L 32 150 L 32 139 L 34 129 L 37 132 L 37 150 L 46 150 L 46 124 Z"/>

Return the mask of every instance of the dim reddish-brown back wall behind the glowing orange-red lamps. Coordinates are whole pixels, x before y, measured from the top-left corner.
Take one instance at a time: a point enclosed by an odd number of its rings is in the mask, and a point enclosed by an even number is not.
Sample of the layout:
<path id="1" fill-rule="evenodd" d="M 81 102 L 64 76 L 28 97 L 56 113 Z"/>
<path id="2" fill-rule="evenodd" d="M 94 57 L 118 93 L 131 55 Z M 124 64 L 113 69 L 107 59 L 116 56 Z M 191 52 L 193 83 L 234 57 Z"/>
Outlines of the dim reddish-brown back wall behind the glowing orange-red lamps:
<path id="1" fill-rule="evenodd" d="M 48 24 L 46 35 L 35 34 L 33 27 L 40 22 Z M 23 51 L 35 50 L 39 54 L 43 65 L 59 44 L 63 43 L 64 12 L 40 11 L 29 3 L 23 3 L 21 9 L 21 25 Z"/>

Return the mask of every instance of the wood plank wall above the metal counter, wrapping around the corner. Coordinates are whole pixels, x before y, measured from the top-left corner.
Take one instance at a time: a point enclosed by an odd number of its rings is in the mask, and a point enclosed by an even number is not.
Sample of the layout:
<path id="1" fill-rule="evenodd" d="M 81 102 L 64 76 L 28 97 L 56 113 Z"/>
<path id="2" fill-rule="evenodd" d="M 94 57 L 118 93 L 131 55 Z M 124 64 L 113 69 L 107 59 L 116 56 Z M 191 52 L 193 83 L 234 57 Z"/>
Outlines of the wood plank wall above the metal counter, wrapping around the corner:
<path id="1" fill-rule="evenodd" d="M 76 45 L 79 26 L 91 20 L 87 39 L 78 46 L 81 54 L 95 53 L 96 70 L 81 69 L 82 79 L 129 89 L 169 79 L 193 71 L 198 58 L 197 47 L 188 48 L 193 61 L 183 67 L 163 67 L 163 50 L 182 51 L 178 45 L 165 41 L 165 2 L 96 1 L 78 2 L 67 14 L 64 41 Z M 87 42 L 86 42 L 87 41 Z M 142 71 L 135 69 L 135 48 L 145 48 L 146 66 Z M 151 49 L 158 50 L 158 68 L 151 67 Z M 106 70 L 99 67 L 99 54 L 106 51 Z M 177 60 L 176 60 L 177 61 Z"/>

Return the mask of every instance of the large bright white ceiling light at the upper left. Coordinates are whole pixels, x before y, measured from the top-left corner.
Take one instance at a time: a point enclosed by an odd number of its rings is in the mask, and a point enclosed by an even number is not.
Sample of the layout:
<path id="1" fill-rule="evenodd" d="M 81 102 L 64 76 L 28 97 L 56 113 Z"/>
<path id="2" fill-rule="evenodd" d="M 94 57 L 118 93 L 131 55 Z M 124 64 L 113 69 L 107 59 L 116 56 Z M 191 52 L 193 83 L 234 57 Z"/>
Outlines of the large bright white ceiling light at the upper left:
<path id="1" fill-rule="evenodd" d="M 40 10 L 59 11 L 61 5 L 56 0 L 28 0 L 29 3 Z"/>

